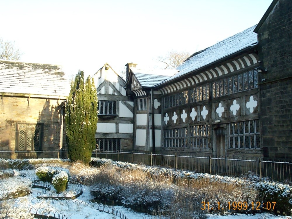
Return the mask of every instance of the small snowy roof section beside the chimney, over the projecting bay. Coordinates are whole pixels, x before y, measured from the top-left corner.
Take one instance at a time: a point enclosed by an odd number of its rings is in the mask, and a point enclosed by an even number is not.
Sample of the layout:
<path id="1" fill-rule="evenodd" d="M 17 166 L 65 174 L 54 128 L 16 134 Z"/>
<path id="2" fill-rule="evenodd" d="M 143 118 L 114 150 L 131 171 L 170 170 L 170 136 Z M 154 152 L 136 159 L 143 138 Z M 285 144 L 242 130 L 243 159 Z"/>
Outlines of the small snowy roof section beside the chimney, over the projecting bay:
<path id="1" fill-rule="evenodd" d="M 178 73 L 178 70 L 176 69 L 130 69 L 142 87 L 154 87 L 155 85 Z"/>

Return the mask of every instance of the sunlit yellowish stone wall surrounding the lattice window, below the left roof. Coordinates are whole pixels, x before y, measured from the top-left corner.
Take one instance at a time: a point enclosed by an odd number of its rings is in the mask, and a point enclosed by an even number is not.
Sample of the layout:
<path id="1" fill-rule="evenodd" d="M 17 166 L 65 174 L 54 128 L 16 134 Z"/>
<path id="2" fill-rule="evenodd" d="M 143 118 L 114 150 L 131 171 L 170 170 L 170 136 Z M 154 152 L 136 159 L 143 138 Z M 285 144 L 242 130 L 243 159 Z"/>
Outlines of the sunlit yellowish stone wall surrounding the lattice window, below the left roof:
<path id="1" fill-rule="evenodd" d="M 16 126 L 25 123 L 43 124 L 41 150 L 59 150 L 59 117 L 57 100 L 4 95 L 0 102 L 0 150 L 15 150 Z"/>

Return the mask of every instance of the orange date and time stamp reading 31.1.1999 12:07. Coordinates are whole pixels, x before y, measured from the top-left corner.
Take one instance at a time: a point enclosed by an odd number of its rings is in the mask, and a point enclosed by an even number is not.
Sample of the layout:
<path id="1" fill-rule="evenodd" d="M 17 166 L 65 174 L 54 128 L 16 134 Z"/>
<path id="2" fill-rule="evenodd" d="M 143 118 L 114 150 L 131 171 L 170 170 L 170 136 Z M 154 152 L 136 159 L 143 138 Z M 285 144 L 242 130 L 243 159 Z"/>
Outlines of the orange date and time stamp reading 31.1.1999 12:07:
<path id="1" fill-rule="evenodd" d="M 276 205 L 276 201 L 267 201 L 267 202 L 260 202 L 260 201 L 256 201 L 256 202 L 251 202 L 250 204 L 248 204 L 246 201 L 228 201 L 227 204 L 228 206 L 221 206 L 220 205 L 220 201 L 217 202 L 218 206 L 216 207 L 210 207 L 210 203 L 209 202 L 205 202 L 202 201 L 201 202 L 202 210 L 234 210 L 234 211 L 241 211 L 241 210 L 247 210 L 248 208 L 251 210 L 274 210 L 275 205 Z"/>

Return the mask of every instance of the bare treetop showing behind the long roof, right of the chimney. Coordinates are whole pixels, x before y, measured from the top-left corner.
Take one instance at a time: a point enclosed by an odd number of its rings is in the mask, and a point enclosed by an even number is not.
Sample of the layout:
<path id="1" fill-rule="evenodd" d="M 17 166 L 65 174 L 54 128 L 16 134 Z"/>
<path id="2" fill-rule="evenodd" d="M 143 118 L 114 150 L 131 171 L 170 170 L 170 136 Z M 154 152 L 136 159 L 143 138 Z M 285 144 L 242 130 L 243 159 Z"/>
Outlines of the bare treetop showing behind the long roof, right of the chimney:
<path id="1" fill-rule="evenodd" d="M 164 56 L 158 56 L 157 61 L 163 62 L 166 66 L 164 69 L 175 69 L 178 67 L 183 61 L 185 61 L 190 56 L 189 52 L 183 51 L 169 51 Z"/>

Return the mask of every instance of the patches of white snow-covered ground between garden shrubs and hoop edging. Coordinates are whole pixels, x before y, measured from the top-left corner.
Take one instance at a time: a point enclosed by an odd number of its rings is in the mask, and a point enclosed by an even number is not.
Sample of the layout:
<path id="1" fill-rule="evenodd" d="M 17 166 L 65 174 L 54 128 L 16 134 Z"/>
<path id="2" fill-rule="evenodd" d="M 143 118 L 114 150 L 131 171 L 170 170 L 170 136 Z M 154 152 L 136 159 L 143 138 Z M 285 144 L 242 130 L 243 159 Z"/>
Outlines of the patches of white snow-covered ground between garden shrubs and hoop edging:
<path id="1" fill-rule="evenodd" d="M 108 214 L 105 212 L 100 212 L 93 207 L 91 203 L 93 197 L 90 194 L 90 187 L 83 185 L 83 193 L 77 199 L 73 201 L 52 201 L 52 200 L 40 200 L 36 199 L 38 192 L 43 192 L 43 189 L 39 188 L 31 188 L 30 184 L 32 179 L 36 179 L 37 176 L 35 174 L 35 170 L 13 170 L 14 176 L 9 178 L 4 178 L 0 180 L 0 197 L 5 197 L 7 193 L 15 192 L 18 188 L 22 188 L 23 191 L 26 188 L 29 188 L 30 194 L 24 197 L 20 197 L 15 199 L 14 201 L 7 201 L 9 205 L 13 205 L 14 209 L 12 211 L 18 212 L 19 209 L 31 209 L 34 208 L 35 211 L 44 211 L 44 209 L 48 209 L 48 211 L 57 211 L 58 213 L 62 213 L 62 215 L 66 215 L 68 218 L 72 219 L 80 219 L 80 218 L 88 218 L 88 219 L 114 219 L 120 218 L 119 216 L 114 216 L 112 214 Z M 74 187 L 69 184 L 67 190 L 74 190 Z M 51 186 L 51 192 L 54 191 L 53 186 Z M 17 208 L 16 208 L 17 207 Z M 122 206 L 113 206 L 113 208 L 118 209 L 122 212 L 122 214 L 126 215 L 127 218 L 142 218 L 142 219 L 154 219 L 160 218 L 159 216 L 152 216 L 145 213 L 137 213 L 129 208 L 124 208 Z M 16 211 L 18 209 L 18 211 Z M 39 209 L 39 210 L 38 210 Z M 212 215 L 207 214 L 207 217 L 210 219 L 258 219 L 258 218 L 266 218 L 266 219 L 276 219 L 276 218 L 291 218 L 289 216 L 275 216 L 269 213 L 258 213 L 255 215 L 245 215 L 245 214 L 234 214 L 228 215 Z M 21 213 L 15 213 L 15 219 L 21 218 Z M 25 218 L 25 217 L 23 217 Z"/>

